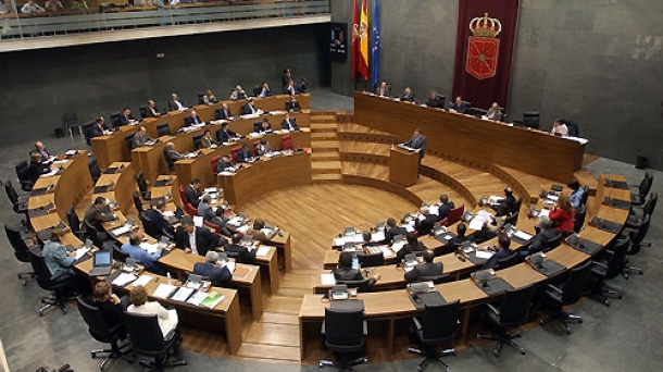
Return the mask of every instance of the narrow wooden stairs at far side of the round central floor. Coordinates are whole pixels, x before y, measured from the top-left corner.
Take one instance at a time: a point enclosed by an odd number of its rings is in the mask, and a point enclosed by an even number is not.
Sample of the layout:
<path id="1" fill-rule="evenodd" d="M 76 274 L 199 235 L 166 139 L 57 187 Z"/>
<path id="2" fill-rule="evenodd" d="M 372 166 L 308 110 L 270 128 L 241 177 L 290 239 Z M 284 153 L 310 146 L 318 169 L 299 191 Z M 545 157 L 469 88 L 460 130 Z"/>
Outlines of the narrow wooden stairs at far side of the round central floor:
<path id="1" fill-rule="evenodd" d="M 313 183 L 341 182 L 337 121 L 334 112 L 311 113 Z"/>

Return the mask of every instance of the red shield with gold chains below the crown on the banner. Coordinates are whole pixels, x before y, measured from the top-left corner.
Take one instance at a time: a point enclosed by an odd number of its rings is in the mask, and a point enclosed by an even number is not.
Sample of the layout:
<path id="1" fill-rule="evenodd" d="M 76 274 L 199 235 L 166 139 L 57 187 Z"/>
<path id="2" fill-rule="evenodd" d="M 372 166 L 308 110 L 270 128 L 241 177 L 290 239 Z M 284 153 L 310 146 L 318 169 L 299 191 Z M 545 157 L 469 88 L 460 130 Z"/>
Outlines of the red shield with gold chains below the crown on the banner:
<path id="1" fill-rule="evenodd" d="M 467 39 L 465 71 L 479 80 L 492 77 L 497 71 L 499 54 L 500 39 L 471 36 Z"/>

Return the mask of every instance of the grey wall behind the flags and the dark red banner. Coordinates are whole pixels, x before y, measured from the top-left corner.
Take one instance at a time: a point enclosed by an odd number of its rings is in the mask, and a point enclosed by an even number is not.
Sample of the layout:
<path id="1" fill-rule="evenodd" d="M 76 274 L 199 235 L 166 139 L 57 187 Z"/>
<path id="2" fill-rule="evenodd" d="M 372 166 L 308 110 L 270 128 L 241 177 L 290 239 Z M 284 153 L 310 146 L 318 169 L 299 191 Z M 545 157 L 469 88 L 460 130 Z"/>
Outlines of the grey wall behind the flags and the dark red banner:
<path id="1" fill-rule="evenodd" d="M 332 20 L 351 28 L 352 3 L 332 0 Z M 540 111 L 546 129 L 572 119 L 588 152 L 663 169 L 662 16 L 660 0 L 522 0 L 509 119 Z M 456 22 L 458 0 L 380 1 L 380 78 L 395 95 L 450 99 Z M 332 63 L 336 92 L 354 87 L 350 61 Z"/>

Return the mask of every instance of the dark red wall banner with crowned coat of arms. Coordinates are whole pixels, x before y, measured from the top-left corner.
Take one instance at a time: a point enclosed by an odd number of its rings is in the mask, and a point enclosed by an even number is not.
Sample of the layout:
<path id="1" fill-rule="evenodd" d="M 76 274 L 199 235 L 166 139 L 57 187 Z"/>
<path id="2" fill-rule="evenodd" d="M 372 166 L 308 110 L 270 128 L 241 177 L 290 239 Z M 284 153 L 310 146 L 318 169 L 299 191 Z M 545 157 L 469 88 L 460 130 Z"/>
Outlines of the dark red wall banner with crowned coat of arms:
<path id="1" fill-rule="evenodd" d="M 518 5 L 520 0 L 459 0 L 453 96 L 473 108 L 506 107 Z"/>

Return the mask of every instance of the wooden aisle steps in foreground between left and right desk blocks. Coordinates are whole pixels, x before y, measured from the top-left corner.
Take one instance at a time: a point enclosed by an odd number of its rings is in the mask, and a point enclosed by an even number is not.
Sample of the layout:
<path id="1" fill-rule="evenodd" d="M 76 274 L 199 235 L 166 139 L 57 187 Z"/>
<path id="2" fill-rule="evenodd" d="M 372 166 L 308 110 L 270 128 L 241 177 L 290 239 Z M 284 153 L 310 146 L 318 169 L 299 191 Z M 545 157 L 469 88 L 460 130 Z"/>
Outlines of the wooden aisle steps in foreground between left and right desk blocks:
<path id="1" fill-rule="evenodd" d="M 265 311 L 243 337 L 239 357 L 253 360 L 300 362 L 299 310 L 313 287 L 316 270 L 291 270 L 278 292 L 267 296 Z"/>

